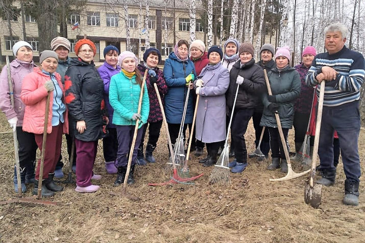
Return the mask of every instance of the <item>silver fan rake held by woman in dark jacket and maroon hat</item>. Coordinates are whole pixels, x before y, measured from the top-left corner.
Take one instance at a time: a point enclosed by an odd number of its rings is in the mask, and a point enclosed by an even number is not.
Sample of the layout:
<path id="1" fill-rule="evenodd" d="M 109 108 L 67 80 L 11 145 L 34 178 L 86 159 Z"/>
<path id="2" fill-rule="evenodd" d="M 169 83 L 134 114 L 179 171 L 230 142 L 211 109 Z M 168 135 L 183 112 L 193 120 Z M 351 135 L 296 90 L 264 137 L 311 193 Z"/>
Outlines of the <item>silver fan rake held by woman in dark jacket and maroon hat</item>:
<path id="1" fill-rule="evenodd" d="M 230 174 L 231 171 L 229 170 L 229 167 L 228 167 L 228 163 L 229 163 L 228 138 L 229 138 L 229 131 L 230 131 L 231 124 L 232 124 L 234 107 L 236 106 L 238 89 L 239 89 L 239 84 L 237 84 L 236 95 L 234 97 L 231 118 L 229 120 L 228 129 L 227 129 L 226 141 L 224 143 L 222 153 L 221 153 L 220 157 L 218 158 L 217 163 L 214 165 L 212 172 L 210 173 L 209 181 L 208 181 L 209 184 L 218 183 L 218 184 L 222 184 L 223 186 L 227 186 L 227 185 L 231 184 L 231 174 Z"/>

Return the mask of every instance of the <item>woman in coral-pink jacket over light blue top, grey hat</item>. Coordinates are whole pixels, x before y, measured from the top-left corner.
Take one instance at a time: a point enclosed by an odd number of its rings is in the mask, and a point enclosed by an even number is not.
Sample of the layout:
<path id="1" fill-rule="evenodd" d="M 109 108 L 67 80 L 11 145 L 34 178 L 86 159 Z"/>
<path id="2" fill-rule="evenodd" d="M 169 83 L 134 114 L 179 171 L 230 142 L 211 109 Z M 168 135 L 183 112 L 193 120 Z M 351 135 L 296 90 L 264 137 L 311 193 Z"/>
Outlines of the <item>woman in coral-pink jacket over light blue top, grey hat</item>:
<path id="1" fill-rule="evenodd" d="M 68 133 L 68 117 L 65 106 L 65 89 L 61 76 L 56 73 L 58 55 L 54 51 L 39 53 L 40 68 L 28 74 L 21 87 L 20 98 L 25 103 L 23 130 L 32 132 L 36 143 L 42 150 L 45 106 L 47 96 L 50 95 L 50 108 L 47 121 L 47 143 L 44 150 L 44 168 L 42 182 L 42 196 L 53 196 L 54 192 L 62 191 L 63 187 L 53 181 L 55 168 L 61 154 L 62 134 Z M 38 161 L 36 180 L 33 194 L 38 194 L 39 168 Z"/>

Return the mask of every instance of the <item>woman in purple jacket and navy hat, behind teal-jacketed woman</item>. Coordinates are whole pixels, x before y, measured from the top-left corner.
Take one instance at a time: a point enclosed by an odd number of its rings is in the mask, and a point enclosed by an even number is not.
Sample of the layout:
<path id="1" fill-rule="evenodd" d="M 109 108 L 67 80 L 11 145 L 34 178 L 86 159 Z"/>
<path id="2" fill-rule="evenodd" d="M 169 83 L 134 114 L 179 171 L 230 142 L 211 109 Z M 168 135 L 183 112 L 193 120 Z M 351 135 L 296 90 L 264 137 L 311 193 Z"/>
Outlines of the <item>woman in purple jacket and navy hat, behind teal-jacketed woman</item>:
<path id="1" fill-rule="evenodd" d="M 109 174 L 115 174 L 117 168 L 115 167 L 116 153 L 118 151 L 118 140 L 116 137 L 116 127 L 113 124 L 114 109 L 109 103 L 109 85 L 110 78 L 120 73 L 118 63 L 119 50 L 115 46 L 107 46 L 104 48 L 104 64 L 98 69 L 100 77 L 104 81 L 104 101 L 108 108 L 109 123 L 107 125 L 109 136 L 103 138 L 103 153 L 105 159 L 105 169 Z"/>

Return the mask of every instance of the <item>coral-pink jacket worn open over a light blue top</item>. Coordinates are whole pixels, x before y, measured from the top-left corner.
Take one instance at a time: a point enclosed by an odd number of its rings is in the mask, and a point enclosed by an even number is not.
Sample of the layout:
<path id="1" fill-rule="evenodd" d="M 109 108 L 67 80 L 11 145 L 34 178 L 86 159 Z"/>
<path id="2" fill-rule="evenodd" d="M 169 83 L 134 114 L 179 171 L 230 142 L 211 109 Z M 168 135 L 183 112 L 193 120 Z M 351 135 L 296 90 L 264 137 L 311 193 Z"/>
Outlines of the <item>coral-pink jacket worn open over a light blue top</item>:
<path id="1" fill-rule="evenodd" d="M 58 73 L 53 74 L 57 83 L 62 90 L 62 102 L 65 104 L 65 89 L 61 82 L 61 76 Z M 20 98 L 26 104 L 23 131 L 32 132 L 33 134 L 43 134 L 45 105 L 47 102 L 48 92 L 44 83 L 51 80 L 51 77 L 43 73 L 38 67 L 34 72 L 28 74 L 22 83 Z M 48 109 L 47 134 L 52 132 L 52 106 L 54 102 L 54 92 L 50 92 L 50 108 Z M 63 113 L 63 133 L 68 134 L 68 114 L 67 110 Z"/>

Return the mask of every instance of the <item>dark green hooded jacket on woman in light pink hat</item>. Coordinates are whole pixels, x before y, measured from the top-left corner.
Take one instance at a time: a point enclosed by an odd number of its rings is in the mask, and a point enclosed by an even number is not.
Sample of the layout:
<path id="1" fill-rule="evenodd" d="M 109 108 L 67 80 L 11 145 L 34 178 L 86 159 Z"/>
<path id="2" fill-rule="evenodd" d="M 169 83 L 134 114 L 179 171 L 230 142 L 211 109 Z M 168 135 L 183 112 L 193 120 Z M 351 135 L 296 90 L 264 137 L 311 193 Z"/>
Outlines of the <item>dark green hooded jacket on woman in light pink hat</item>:
<path id="1" fill-rule="evenodd" d="M 269 77 L 271 91 L 276 96 L 276 103 L 279 104 L 279 117 L 282 128 L 291 129 L 294 120 L 294 102 L 300 95 L 300 75 L 297 70 L 287 65 L 282 71 L 272 69 Z M 267 93 L 262 97 L 263 114 L 260 126 L 277 127 L 275 114 L 269 111 L 269 100 Z"/>

